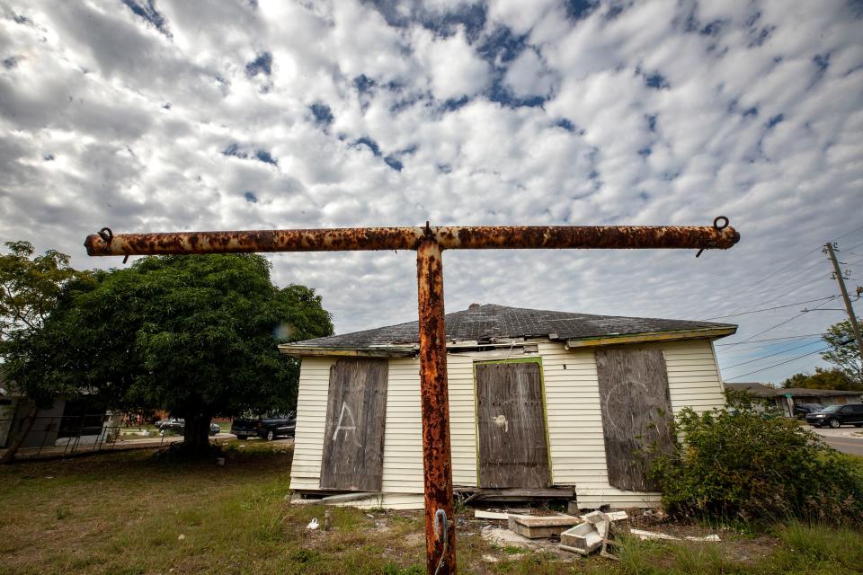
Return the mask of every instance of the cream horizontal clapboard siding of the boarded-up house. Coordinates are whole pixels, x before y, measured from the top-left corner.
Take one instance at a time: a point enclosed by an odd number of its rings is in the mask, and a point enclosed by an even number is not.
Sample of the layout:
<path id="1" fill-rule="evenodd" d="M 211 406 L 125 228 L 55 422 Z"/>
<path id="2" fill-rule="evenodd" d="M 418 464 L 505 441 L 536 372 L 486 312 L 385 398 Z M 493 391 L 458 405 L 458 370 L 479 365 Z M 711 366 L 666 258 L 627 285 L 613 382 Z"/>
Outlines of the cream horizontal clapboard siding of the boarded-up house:
<path id="1" fill-rule="evenodd" d="M 724 404 L 712 346 L 707 340 L 649 344 L 663 349 L 668 367 L 672 410 L 697 411 Z M 654 505 L 656 493 L 621 491 L 608 482 L 602 416 L 592 349 L 565 349 L 562 343 L 538 344 L 546 393 L 552 476 L 556 485 L 574 485 L 579 504 L 598 507 Z M 450 354 L 449 431 L 453 483 L 476 486 L 476 406 L 474 362 L 501 358 L 494 354 Z M 524 356 L 520 356 L 524 357 Z M 297 438 L 291 487 L 319 487 L 332 358 L 303 358 L 298 397 Z M 384 440 L 383 491 L 423 492 L 423 438 L 420 367 L 415 358 L 389 362 L 387 422 Z M 387 501 L 396 504 L 395 498 Z M 405 500 L 406 501 L 406 500 Z M 404 505 L 405 501 L 398 500 Z M 411 500 L 412 502 L 414 500 Z"/>

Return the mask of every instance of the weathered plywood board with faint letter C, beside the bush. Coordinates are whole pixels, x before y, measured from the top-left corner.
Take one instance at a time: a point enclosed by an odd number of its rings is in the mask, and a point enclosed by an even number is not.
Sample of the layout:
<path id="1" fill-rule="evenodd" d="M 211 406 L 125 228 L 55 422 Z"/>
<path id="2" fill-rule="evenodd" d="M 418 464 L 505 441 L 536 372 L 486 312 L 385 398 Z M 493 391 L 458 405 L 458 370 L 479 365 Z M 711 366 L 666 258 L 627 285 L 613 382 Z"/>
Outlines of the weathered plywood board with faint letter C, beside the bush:
<path id="1" fill-rule="evenodd" d="M 602 430 L 609 484 L 654 491 L 647 478 L 651 454 L 673 446 L 672 403 L 659 349 L 598 349 Z"/>

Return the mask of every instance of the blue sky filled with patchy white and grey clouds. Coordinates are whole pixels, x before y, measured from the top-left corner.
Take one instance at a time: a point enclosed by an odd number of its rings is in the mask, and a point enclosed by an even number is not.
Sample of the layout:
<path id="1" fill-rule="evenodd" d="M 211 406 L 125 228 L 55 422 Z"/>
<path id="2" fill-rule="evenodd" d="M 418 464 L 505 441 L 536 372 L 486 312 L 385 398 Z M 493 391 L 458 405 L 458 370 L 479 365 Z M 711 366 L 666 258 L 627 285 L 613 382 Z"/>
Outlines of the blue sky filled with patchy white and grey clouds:
<path id="1" fill-rule="evenodd" d="M 86 256 L 102 226 L 725 216 L 741 242 L 698 259 L 445 252 L 446 308 L 740 314 L 716 320 L 740 326 L 723 376 L 778 382 L 823 366 L 844 317 L 823 243 L 863 285 L 861 20 L 859 0 L 0 0 L 0 242 L 85 269 L 122 265 Z M 416 319 L 414 252 L 268 258 L 336 332 Z"/>

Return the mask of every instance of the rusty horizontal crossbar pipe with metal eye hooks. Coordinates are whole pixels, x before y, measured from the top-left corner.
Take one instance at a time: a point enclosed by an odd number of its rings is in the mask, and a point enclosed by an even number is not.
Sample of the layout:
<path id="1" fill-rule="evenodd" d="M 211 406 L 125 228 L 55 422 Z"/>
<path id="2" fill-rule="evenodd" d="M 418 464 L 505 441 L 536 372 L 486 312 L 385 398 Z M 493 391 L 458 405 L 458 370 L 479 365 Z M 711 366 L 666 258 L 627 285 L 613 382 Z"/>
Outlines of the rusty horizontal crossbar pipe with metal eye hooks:
<path id="1" fill-rule="evenodd" d="M 431 237 L 443 250 L 489 249 L 728 249 L 740 240 L 716 226 L 440 226 L 360 227 L 167 234 L 88 235 L 87 254 L 342 252 L 416 250 Z"/>

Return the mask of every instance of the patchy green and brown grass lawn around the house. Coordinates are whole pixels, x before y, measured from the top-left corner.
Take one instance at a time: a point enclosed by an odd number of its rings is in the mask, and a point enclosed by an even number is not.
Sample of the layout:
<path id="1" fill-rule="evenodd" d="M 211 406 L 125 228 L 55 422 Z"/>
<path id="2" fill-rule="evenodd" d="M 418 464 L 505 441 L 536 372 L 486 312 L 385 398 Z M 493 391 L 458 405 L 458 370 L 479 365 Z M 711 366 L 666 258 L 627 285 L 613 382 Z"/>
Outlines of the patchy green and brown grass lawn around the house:
<path id="1" fill-rule="evenodd" d="M 156 461 L 149 450 L 0 467 L 0 573 L 422 574 L 419 512 L 289 505 L 290 447 L 227 444 L 222 467 Z M 495 548 L 458 515 L 463 573 L 859 573 L 863 534 L 788 524 L 721 530 L 720 544 L 625 541 L 620 562 Z M 484 556 L 493 557 L 488 562 Z"/>

